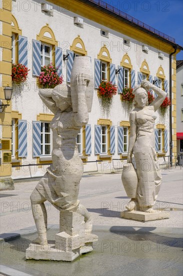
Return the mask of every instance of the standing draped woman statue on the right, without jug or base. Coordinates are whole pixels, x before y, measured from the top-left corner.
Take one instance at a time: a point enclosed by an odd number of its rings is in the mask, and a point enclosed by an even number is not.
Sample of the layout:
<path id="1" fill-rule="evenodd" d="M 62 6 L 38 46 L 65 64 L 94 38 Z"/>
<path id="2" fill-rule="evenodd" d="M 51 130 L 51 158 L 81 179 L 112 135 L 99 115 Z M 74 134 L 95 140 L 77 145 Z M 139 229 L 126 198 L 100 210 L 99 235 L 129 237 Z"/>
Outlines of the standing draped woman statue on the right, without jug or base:
<path id="1" fill-rule="evenodd" d="M 147 91 L 149 89 L 152 89 L 157 94 L 157 97 L 148 105 Z M 129 186 L 125 189 L 127 195 L 130 194 L 128 196 L 132 197 L 126 209 L 132 211 L 137 208 L 137 210 L 152 213 L 155 212 L 152 206 L 155 204 L 162 179 L 155 165 L 155 161 L 157 160 L 154 148 L 155 111 L 165 99 L 166 93 L 146 80 L 142 81 L 133 90 L 133 93 L 135 107 L 129 114 L 130 137 L 127 163 L 132 163 L 133 154 L 136 163 L 135 177 L 137 177 L 136 183 L 135 181 L 130 183 L 132 189 L 135 191 L 133 195 L 131 196 L 131 193 L 127 191 L 129 190 Z M 132 164 L 131 168 L 133 169 Z M 130 173 L 129 171 L 129 181 Z M 124 182 L 123 180 L 125 188 Z"/>

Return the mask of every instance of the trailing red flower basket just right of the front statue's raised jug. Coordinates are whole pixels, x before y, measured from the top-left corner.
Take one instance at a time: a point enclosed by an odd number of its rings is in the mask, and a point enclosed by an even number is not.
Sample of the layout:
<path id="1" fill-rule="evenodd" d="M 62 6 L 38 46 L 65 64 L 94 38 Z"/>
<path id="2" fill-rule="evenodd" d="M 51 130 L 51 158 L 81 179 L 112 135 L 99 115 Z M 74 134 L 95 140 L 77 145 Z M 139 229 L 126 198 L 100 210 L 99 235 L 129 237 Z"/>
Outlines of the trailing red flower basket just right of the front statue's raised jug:
<path id="1" fill-rule="evenodd" d="M 117 93 L 117 86 L 111 82 L 102 80 L 98 87 L 98 97 L 101 98 L 101 106 L 108 115 L 112 105 L 112 98 Z"/>

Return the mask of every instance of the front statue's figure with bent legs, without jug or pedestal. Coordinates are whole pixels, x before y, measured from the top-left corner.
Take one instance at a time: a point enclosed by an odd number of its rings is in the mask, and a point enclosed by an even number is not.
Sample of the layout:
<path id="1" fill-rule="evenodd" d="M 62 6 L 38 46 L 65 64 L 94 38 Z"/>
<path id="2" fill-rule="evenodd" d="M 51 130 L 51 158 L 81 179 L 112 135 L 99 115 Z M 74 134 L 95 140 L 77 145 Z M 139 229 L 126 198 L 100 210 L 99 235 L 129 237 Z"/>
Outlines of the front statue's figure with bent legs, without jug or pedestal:
<path id="1" fill-rule="evenodd" d="M 88 121 L 86 86 L 88 76 L 75 77 L 77 112 L 72 111 L 70 87 L 57 85 L 54 89 L 40 89 L 39 96 L 53 112 L 50 122 L 52 129 L 52 164 L 33 190 L 30 200 L 38 238 L 41 245 L 47 243 L 47 214 L 44 201 L 49 201 L 58 210 L 73 211 L 84 216 L 85 232 L 92 228 L 91 216 L 79 203 L 79 182 L 83 173 L 82 160 L 78 155 L 76 136 L 82 125 Z"/>

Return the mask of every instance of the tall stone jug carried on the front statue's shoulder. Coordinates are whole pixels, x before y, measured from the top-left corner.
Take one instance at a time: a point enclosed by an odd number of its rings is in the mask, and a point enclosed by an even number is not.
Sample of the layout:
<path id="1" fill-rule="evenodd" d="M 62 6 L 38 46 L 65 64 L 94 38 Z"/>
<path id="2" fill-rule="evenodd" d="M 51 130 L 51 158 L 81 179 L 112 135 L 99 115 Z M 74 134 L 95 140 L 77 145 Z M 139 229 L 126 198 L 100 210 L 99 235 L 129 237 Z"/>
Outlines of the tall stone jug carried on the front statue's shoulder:
<path id="1" fill-rule="evenodd" d="M 93 99 L 93 73 L 91 67 L 91 59 L 87 56 L 79 56 L 74 58 L 73 67 L 70 76 L 71 101 L 73 112 L 77 112 L 77 94 L 75 89 L 75 77 L 78 74 L 87 75 L 86 87 L 86 104 L 88 112 L 91 112 Z"/>

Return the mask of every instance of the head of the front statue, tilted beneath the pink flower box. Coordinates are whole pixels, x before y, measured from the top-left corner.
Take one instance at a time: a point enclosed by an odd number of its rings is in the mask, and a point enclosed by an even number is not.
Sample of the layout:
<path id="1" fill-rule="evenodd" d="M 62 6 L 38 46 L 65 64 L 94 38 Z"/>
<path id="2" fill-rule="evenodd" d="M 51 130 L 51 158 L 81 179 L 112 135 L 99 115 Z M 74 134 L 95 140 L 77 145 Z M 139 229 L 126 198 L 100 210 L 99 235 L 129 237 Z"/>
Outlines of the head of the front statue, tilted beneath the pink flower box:
<path id="1" fill-rule="evenodd" d="M 52 90 L 52 99 L 61 111 L 71 106 L 70 87 L 66 84 L 59 84 Z"/>

